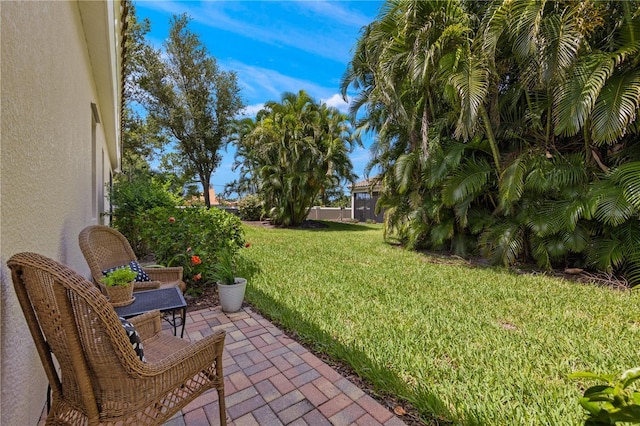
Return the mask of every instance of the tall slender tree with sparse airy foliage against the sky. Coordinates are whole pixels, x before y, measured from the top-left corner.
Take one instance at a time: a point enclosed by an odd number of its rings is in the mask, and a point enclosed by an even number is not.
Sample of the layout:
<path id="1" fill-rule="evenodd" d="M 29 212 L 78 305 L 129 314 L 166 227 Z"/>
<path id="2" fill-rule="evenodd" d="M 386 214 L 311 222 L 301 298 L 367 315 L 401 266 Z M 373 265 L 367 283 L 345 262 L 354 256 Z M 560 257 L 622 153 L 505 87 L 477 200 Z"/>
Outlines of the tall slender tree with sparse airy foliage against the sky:
<path id="1" fill-rule="evenodd" d="M 198 177 L 210 207 L 209 186 L 220 164 L 219 150 L 244 104 L 236 74 L 219 68 L 188 23 L 186 15 L 173 17 L 164 53 L 144 47 L 144 72 L 136 76 L 138 99 L 149 118 L 177 142 L 185 172 Z"/>

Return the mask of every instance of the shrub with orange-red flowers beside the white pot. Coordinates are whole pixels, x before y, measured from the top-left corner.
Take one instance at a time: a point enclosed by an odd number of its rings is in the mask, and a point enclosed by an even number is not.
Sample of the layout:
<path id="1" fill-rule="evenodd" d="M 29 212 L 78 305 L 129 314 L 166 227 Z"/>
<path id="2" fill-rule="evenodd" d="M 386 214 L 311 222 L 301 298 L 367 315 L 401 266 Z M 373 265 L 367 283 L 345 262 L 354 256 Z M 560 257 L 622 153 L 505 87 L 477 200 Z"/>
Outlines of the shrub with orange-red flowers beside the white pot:
<path id="1" fill-rule="evenodd" d="M 182 266 L 190 292 L 213 284 L 210 275 L 221 250 L 235 253 L 245 245 L 240 219 L 215 207 L 159 207 L 143 220 L 142 236 L 156 262 Z"/>

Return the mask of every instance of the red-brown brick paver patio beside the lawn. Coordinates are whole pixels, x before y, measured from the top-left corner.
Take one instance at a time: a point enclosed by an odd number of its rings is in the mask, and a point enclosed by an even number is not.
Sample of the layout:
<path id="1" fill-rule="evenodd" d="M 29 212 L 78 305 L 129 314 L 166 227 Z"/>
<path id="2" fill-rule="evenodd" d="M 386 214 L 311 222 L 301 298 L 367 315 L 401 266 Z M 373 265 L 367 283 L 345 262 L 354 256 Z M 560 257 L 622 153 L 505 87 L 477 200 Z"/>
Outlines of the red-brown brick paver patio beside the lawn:
<path id="1" fill-rule="evenodd" d="M 404 425 L 399 418 L 251 308 L 189 312 L 185 338 L 227 332 L 227 421 L 235 425 Z M 213 390 L 165 426 L 216 425 Z"/>

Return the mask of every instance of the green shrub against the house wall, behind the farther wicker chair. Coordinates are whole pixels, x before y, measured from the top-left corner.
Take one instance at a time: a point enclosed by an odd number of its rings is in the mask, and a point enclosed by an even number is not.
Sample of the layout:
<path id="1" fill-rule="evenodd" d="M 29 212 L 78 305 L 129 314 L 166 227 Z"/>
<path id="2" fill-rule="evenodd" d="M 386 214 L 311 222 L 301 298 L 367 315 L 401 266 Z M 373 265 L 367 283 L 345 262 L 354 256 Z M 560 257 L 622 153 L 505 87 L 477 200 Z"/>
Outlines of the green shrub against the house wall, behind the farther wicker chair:
<path id="1" fill-rule="evenodd" d="M 147 247 L 140 235 L 144 225 L 140 217 L 154 207 L 175 207 L 178 198 L 147 174 L 134 177 L 117 175 L 110 192 L 113 205 L 111 226 L 124 235 L 137 256 L 147 254 Z"/>

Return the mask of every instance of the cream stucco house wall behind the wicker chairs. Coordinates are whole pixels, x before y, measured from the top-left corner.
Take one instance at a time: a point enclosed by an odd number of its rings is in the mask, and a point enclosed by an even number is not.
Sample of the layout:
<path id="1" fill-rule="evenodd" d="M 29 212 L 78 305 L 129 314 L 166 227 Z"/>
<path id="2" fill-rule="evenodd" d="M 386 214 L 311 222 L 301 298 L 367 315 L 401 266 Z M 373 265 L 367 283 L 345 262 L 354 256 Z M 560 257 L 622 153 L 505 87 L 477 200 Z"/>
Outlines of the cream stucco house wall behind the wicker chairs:
<path id="1" fill-rule="evenodd" d="M 95 8 L 91 19 L 114 25 L 112 2 L 87 3 Z M 108 182 L 117 164 L 110 153 L 117 152 L 118 100 L 110 94 L 117 97 L 119 87 L 111 81 L 107 84 L 113 87 L 105 88 L 94 71 L 101 63 L 109 68 L 107 78 L 118 71 L 117 49 L 109 51 L 115 45 L 113 28 L 88 42 L 92 30 L 86 16 L 83 25 L 83 13 L 75 1 L 0 2 L 2 425 L 37 424 L 47 388 L 6 261 L 14 253 L 34 251 L 88 277 L 78 233 L 99 222 L 94 211 L 101 207 L 94 206 L 101 190 L 92 186 Z M 101 117 L 95 137 L 92 103 L 108 118 Z"/>

